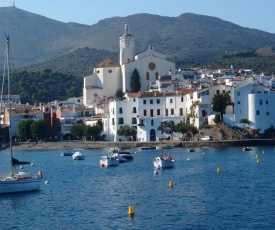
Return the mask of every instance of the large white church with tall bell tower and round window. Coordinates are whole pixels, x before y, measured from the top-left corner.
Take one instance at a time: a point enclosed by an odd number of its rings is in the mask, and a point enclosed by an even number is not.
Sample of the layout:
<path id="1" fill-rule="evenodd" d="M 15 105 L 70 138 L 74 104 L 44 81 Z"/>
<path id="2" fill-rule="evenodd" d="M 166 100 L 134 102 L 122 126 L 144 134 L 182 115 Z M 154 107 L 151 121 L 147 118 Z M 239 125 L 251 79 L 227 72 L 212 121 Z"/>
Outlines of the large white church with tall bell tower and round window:
<path id="1" fill-rule="evenodd" d="M 116 63 L 106 59 L 98 64 L 93 74 L 84 77 L 83 103 L 95 107 L 104 96 L 115 96 L 117 90 L 131 92 L 131 77 L 136 69 L 140 76 L 140 91 L 148 91 L 149 85 L 159 76 L 175 71 L 175 63 L 166 59 L 166 55 L 156 52 L 153 46 L 140 54 L 135 54 L 135 39 L 125 25 L 124 34 L 119 38 L 120 61 Z"/>

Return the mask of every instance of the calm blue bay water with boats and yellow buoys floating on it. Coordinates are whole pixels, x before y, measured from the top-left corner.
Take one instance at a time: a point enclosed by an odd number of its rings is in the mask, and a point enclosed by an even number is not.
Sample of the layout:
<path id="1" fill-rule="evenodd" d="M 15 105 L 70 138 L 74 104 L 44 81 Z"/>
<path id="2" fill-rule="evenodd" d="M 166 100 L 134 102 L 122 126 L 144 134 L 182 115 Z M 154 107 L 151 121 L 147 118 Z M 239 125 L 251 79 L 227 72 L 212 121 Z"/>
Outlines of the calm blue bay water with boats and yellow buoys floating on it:
<path id="1" fill-rule="evenodd" d="M 159 150 L 133 149 L 134 161 L 100 168 L 108 151 L 86 150 L 84 161 L 61 151 L 14 151 L 31 158 L 44 181 L 38 192 L 0 196 L 1 229 L 275 228 L 273 147 L 173 149 L 175 168 L 156 175 Z M 2 171 L 8 155 L 0 154 Z"/>

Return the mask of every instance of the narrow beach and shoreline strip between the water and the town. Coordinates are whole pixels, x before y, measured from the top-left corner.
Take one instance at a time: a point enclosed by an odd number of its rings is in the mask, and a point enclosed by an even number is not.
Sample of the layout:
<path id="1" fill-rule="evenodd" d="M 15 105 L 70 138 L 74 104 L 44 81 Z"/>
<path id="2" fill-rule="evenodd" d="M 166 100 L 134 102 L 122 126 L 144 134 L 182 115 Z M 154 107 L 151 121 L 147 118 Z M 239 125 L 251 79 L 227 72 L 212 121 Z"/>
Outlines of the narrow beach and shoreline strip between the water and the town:
<path id="1" fill-rule="evenodd" d="M 154 141 L 154 142 L 106 142 L 106 141 L 62 141 L 62 142 L 17 142 L 14 143 L 13 150 L 58 150 L 64 151 L 74 148 L 97 149 L 97 148 L 140 148 L 155 147 L 157 145 L 174 145 L 180 148 L 196 148 L 196 147 L 234 147 L 234 146 L 275 146 L 274 139 L 243 139 L 243 140 L 222 140 L 222 141 Z M 6 148 L 6 149 L 9 149 Z"/>

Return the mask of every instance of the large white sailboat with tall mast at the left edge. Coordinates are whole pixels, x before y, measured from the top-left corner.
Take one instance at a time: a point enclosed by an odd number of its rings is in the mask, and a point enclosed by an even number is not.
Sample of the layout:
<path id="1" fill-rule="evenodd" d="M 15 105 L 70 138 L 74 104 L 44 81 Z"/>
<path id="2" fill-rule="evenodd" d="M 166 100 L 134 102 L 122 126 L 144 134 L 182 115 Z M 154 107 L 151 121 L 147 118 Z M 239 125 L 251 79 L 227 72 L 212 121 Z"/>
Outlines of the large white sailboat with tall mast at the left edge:
<path id="1" fill-rule="evenodd" d="M 10 173 L 9 175 L 0 175 L 0 194 L 31 192 L 39 190 L 42 180 L 42 171 L 38 171 L 33 175 L 31 172 L 17 171 L 17 166 L 30 164 L 27 161 L 19 161 L 13 157 L 12 152 L 12 134 L 11 134 L 11 92 L 10 92 L 10 70 L 9 70 L 9 54 L 10 54 L 10 38 L 7 36 L 5 66 L 3 78 L 7 75 L 8 78 L 8 109 L 9 109 L 9 153 L 10 153 Z M 7 69 L 7 73 L 6 73 Z M 4 82 L 4 81 L 3 81 Z M 3 88 L 3 87 L 2 87 Z M 3 90 L 2 90 L 3 93 Z M 23 167 L 19 167 L 21 170 Z"/>

